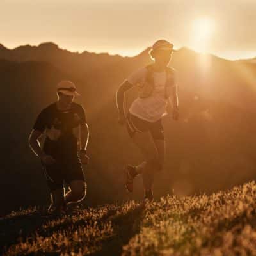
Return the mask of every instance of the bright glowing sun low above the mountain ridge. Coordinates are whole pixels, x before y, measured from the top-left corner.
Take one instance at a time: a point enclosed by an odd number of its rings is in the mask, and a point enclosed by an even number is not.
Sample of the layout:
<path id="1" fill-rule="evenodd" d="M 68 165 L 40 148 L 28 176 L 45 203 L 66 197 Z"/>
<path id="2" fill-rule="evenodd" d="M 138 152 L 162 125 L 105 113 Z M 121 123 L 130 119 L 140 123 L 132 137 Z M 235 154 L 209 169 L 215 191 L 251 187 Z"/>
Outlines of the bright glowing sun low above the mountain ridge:
<path id="1" fill-rule="evenodd" d="M 214 34 L 215 22 L 210 17 L 193 20 L 191 28 L 192 47 L 196 51 L 205 52 Z"/>

